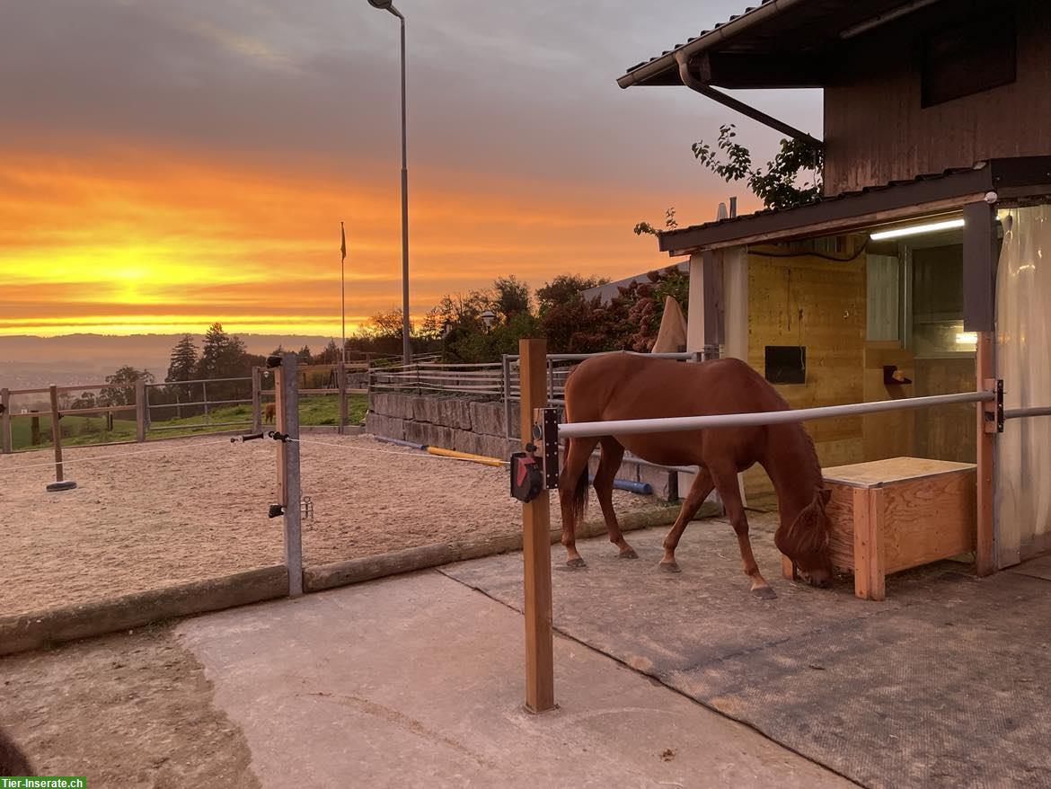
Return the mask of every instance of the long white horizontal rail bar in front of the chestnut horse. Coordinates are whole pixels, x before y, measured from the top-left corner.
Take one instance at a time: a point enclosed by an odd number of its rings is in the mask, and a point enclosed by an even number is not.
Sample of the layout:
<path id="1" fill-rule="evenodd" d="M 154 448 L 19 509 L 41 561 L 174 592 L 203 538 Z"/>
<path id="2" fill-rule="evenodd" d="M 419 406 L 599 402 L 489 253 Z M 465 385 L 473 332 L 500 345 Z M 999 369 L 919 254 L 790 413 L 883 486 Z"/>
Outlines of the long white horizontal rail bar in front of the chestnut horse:
<path id="1" fill-rule="evenodd" d="M 926 398 L 881 400 L 875 403 L 827 405 L 819 408 L 799 408 L 787 411 L 760 411 L 758 413 L 719 413 L 710 417 L 672 417 L 666 419 L 624 419 L 609 422 L 574 422 L 558 426 L 562 439 L 595 438 L 599 436 L 628 436 L 647 432 L 679 432 L 701 430 L 708 427 L 754 427 L 806 422 L 811 419 L 853 417 L 859 413 L 879 413 L 907 408 L 926 408 L 948 403 L 984 403 L 996 399 L 994 391 L 964 391 L 956 394 L 932 394 Z"/>

